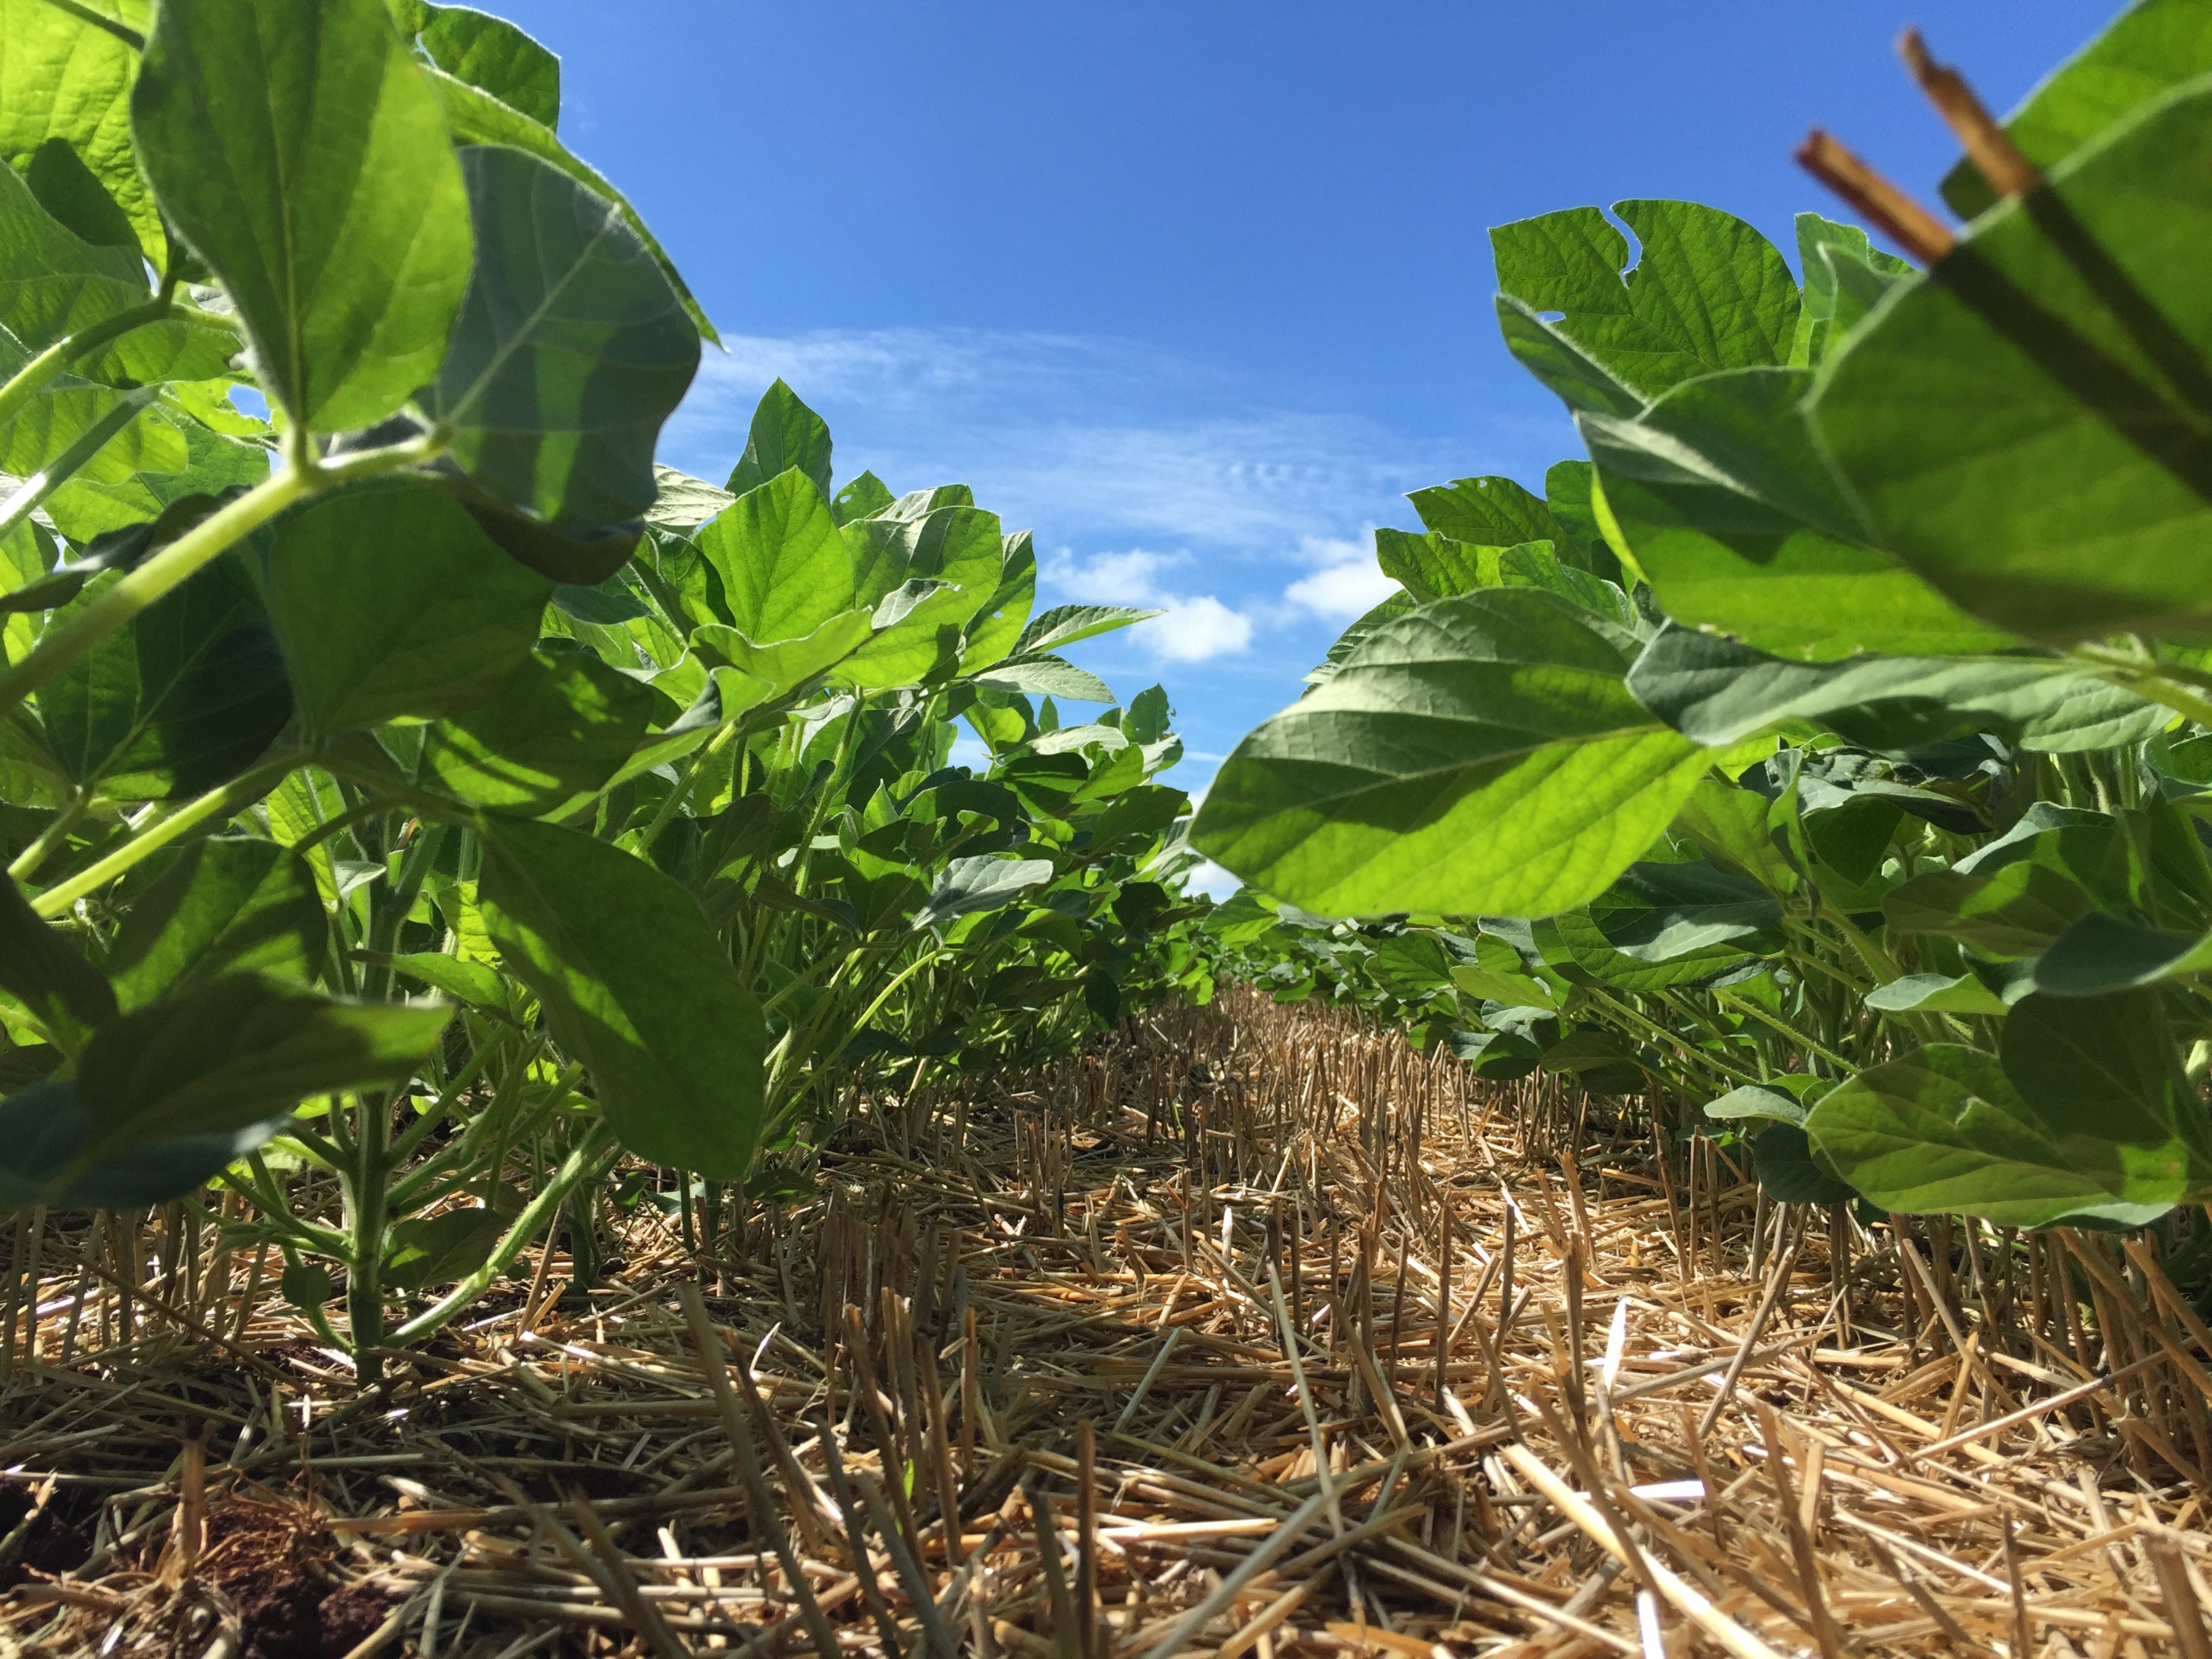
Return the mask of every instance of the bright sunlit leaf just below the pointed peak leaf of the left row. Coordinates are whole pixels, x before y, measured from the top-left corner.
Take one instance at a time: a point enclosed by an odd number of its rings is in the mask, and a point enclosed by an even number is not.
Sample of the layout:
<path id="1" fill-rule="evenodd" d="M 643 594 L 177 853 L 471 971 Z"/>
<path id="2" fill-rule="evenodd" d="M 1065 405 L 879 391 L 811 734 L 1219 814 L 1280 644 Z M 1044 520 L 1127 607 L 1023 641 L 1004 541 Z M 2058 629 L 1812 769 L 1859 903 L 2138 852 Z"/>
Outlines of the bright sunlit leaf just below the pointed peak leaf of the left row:
<path id="1" fill-rule="evenodd" d="M 801 471 L 745 491 L 692 540 L 721 577 L 723 619 L 754 644 L 803 639 L 860 602 L 845 535 Z"/>

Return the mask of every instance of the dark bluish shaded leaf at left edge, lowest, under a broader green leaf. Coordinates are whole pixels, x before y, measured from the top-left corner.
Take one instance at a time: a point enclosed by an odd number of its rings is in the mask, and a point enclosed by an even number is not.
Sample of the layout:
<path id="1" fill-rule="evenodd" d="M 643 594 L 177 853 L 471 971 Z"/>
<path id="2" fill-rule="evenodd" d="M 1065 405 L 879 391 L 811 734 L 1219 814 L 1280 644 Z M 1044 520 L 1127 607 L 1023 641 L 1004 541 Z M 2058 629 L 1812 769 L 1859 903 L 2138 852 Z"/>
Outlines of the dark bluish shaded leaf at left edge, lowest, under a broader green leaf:
<path id="1" fill-rule="evenodd" d="M 135 1210 L 210 1181 L 283 1133 L 290 1113 L 204 1135 L 148 1135 L 86 1157 L 93 1121 L 77 1079 L 64 1077 L 0 1099 L 0 1203 Z"/>

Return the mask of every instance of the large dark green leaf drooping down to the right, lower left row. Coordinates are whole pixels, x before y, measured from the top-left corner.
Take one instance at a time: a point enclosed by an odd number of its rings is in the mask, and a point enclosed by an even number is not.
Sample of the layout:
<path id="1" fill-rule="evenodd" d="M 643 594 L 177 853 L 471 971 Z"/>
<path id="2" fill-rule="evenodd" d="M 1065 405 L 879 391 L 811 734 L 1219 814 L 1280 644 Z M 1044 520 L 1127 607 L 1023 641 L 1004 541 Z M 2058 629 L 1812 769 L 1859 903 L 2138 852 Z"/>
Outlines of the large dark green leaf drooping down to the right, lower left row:
<path id="1" fill-rule="evenodd" d="M 761 1128 L 761 1004 L 697 900 L 604 841 L 484 827 L 484 925 L 637 1157 L 728 1181 Z"/>

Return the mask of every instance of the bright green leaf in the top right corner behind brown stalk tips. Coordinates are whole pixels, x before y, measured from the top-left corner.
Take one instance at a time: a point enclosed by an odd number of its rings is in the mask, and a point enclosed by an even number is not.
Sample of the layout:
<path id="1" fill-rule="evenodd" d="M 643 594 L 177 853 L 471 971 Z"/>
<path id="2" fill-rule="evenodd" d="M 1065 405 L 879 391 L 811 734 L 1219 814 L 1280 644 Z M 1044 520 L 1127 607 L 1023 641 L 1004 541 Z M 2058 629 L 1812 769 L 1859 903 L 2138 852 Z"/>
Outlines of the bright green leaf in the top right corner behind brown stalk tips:
<path id="1" fill-rule="evenodd" d="M 2051 168 L 2170 86 L 2212 73 L 2212 18 L 2197 0 L 2137 0 L 2101 35 L 2048 75 L 2004 117 L 2004 131 L 2037 168 Z M 1960 219 L 1986 212 L 1997 192 L 1969 159 L 1942 181 Z"/>

